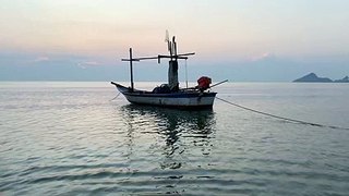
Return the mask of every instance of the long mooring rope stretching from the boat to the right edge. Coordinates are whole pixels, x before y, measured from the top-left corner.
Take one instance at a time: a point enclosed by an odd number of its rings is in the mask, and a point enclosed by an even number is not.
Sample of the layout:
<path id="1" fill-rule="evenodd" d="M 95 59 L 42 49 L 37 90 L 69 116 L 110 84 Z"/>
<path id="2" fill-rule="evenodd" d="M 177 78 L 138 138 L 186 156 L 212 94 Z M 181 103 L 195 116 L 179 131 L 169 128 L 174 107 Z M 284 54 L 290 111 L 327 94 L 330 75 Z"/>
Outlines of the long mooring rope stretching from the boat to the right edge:
<path id="1" fill-rule="evenodd" d="M 238 108 L 241 108 L 241 109 L 244 109 L 244 110 L 249 110 L 249 111 L 252 111 L 252 112 L 255 112 L 255 113 L 260 113 L 260 114 L 263 114 L 263 115 L 268 115 L 268 117 L 272 117 L 272 118 L 275 118 L 275 119 L 281 119 L 281 120 L 289 121 L 289 122 L 296 122 L 296 123 L 308 124 L 308 125 L 320 126 L 320 127 L 329 127 L 329 128 L 335 128 L 335 130 L 349 130 L 348 127 L 324 125 L 324 124 L 312 123 L 312 122 L 306 122 L 306 121 L 301 121 L 301 120 L 296 120 L 296 119 L 290 119 L 290 118 L 284 118 L 284 117 L 275 115 L 275 114 L 272 114 L 272 113 L 266 113 L 266 112 L 262 112 L 262 111 L 258 111 L 258 110 L 254 110 L 254 109 L 241 106 L 241 105 L 237 105 L 237 103 L 233 103 L 231 101 L 225 100 L 225 99 L 219 98 L 219 97 L 216 97 L 216 99 L 219 99 L 219 100 L 221 100 L 221 101 L 224 101 L 226 103 L 229 103 L 231 106 L 234 106 L 234 107 L 238 107 Z"/>

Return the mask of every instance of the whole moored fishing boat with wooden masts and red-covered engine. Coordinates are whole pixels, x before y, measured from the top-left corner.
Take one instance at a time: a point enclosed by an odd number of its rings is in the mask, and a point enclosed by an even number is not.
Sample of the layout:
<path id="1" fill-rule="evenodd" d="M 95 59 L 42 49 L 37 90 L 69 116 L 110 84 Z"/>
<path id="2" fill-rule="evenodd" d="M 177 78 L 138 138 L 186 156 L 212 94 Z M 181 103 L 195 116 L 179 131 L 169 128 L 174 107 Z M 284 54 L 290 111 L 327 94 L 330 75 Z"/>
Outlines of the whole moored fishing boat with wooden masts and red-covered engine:
<path id="1" fill-rule="evenodd" d="M 167 108 L 178 108 L 178 109 L 207 109 L 213 108 L 214 100 L 217 93 L 210 91 L 210 87 L 221 84 L 220 82 L 216 85 L 212 85 L 212 79 L 207 76 L 202 76 L 197 79 L 197 86 L 180 88 L 178 82 L 178 61 L 186 60 L 189 56 L 195 54 L 191 53 L 177 53 L 177 42 L 176 37 L 172 37 L 170 41 L 168 33 L 166 34 L 166 41 L 168 44 L 169 54 L 163 56 L 158 54 L 156 57 L 144 57 L 144 58 L 133 58 L 132 48 L 130 48 L 130 58 L 122 59 L 122 61 L 130 62 L 130 74 L 131 74 L 131 86 L 125 87 L 119 83 L 111 82 L 112 85 L 117 87 L 120 94 L 122 94 L 129 102 L 135 105 L 147 105 Z M 163 84 L 155 87 L 152 91 L 141 90 L 134 88 L 133 83 L 133 62 L 139 62 L 143 60 L 157 59 L 160 63 L 161 59 L 169 59 L 168 69 L 168 84 Z M 186 76 L 186 66 L 185 66 Z"/>

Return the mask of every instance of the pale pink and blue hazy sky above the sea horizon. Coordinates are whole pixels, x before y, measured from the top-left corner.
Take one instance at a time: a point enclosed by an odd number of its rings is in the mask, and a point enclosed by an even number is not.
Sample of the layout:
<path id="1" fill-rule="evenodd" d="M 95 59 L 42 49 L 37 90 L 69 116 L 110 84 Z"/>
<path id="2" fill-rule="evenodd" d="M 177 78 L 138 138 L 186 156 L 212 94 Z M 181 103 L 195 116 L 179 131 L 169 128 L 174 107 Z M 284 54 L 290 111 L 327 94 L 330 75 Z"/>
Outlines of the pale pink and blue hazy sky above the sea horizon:
<path id="1" fill-rule="evenodd" d="M 0 0 L 0 81 L 128 81 L 121 62 L 167 53 L 190 81 L 290 82 L 349 75 L 348 0 Z M 165 61 L 135 81 L 167 81 Z"/>

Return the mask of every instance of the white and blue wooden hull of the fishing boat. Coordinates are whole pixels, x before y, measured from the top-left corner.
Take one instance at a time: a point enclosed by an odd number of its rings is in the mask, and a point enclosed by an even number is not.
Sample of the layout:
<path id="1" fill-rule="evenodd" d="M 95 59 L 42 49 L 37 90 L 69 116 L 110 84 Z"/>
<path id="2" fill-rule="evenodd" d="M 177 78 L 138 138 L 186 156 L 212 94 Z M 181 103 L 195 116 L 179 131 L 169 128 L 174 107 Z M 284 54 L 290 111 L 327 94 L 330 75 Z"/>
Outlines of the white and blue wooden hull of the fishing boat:
<path id="1" fill-rule="evenodd" d="M 130 90 L 122 85 L 113 83 L 118 90 L 131 102 L 180 109 L 212 108 L 216 93 L 200 93 L 195 90 L 178 91 L 170 94 L 154 94 L 151 91 Z"/>

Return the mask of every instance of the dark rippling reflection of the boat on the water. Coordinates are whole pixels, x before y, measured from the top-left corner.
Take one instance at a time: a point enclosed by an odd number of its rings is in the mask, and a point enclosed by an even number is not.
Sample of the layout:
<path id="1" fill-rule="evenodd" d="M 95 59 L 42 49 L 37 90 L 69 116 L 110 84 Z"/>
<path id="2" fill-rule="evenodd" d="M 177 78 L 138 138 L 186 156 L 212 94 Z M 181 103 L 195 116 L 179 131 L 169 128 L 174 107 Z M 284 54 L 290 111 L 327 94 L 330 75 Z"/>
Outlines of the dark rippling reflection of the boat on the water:
<path id="1" fill-rule="evenodd" d="M 157 168 L 148 169 L 191 170 L 201 167 L 194 162 L 209 156 L 210 138 L 215 135 L 215 115 L 212 109 L 180 111 L 127 105 L 121 110 L 128 125 L 130 149 L 133 149 L 131 154 L 142 154 L 139 156 L 146 156 L 145 159 L 151 161 L 148 163 L 157 163 Z M 179 173 L 173 175 L 171 177 L 182 177 Z"/>

